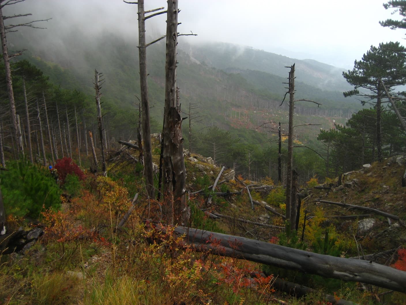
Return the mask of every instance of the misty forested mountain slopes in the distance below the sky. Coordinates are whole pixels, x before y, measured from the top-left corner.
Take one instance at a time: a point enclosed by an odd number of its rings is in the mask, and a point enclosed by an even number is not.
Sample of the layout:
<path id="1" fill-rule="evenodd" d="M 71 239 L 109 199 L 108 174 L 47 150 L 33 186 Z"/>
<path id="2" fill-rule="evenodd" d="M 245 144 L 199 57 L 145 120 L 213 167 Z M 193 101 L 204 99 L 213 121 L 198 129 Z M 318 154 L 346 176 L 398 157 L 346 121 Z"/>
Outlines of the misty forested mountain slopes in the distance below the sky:
<path id="1" fill-rule="evenodd" d="M 8 39 L 10 46 L 13 50 L 27 48 L 29 51 L 24 56 L 43 70 L 45 75 L 49 75 L 53 83 L 94 95 L 96 68 L 98 72 L 103 72 L 106 79 L 102 88 L 103 97 L 118 107 L 135 109 L 135 102 L 138 102 L 136 96 L 140 96 L 137 41 L 108 32 L 91 36 L 77 28 L 69 33 L 60 33 L 59 37 L 52 36 L 54 31 L 28 30 L 12 33 Z M 229 53 L 216 51 L 224 46 L 230 48 Z M 200 123 L 202 126 L 194 126 L 196 130 L 217 125 L 233 130 L 247 142 L 251 143 L 255 139 L 255 142 L 260 143 L 263 142 L 260 139 L 263 135 L 256 131 L 258 126 L 270 120 L 286 120 L 286 103 L 280 107 L 286 91 L 283 82 L 286 81 L 287 69 L 284 65 L 291 65 L 293 60 L 258 50 L 241 50 L 245 55 L 238 57 L 238 48 L 229 44 L 195 47 L 180 41 L 177 59 L 180 102 L 186 113 L 189 103 L 194 102 L 200 106 L 200 113 L 206 115 L 207 119 Z M 164 105 L 164 41 L 148 47 L 147 59 L 151 117 L 161 122 Z M 312 103 L 298 103 L 298 114 L 322 116 L 320 124 L 323 128 L 330 128 L 333 125 L 329 117 L 345 122 L 350 113 L 361 107 L 358 101 L 343 98 L 342 90 L 322 90 L 300 81 L 303 71 L 301 65 L 307 67 L 307 78 L 310 78 L 310 74 L 319 75 L 318 78 L 313 77 L 318 80 L 320 75 L 327 75 L 331 68 L 316 61 L 296 63 L 296 74 L 299 75 L 296 78 L 296 98 L 315 100 L 323 105 L 315 109 Z M 274 67 L 275 74 L 261 71 L 264 70 L 261 67 Z M 329 79 L 330 76 L 323 77 Z M 303 117 L 300 122 L 314 120 Z M 312 130 L 311 137 L 315 138 L 318 130 L 318 126 L 317 130 Z M 310 129 L 303 132 L 310 139 Z"/>

